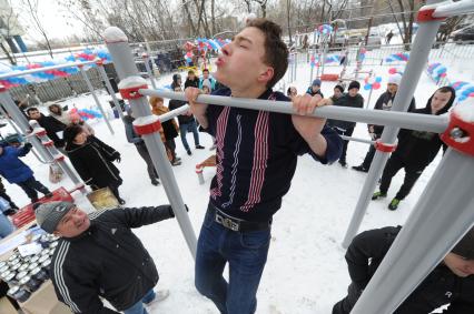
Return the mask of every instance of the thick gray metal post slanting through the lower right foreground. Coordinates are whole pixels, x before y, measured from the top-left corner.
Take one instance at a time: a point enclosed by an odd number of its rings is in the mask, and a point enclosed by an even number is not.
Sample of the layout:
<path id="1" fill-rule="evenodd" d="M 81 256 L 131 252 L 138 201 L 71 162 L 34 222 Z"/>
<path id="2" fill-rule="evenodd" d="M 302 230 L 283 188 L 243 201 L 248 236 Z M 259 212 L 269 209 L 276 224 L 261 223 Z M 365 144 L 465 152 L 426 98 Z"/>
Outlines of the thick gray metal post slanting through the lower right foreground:
<path id="1" fill-rule="evenodd" d="M 446 152 L 352 314 L 393 313 L 471 229 L 473 173 L 473 156 Z"/>

